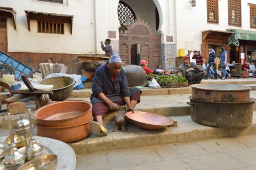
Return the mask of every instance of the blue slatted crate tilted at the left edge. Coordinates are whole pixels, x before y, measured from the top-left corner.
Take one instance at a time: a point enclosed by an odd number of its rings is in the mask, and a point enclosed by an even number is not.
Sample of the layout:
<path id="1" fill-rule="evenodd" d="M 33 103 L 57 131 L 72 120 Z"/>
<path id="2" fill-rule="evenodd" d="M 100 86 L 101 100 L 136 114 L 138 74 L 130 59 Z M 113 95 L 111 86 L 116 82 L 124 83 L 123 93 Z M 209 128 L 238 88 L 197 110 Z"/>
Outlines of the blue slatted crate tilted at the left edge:
<path id="1" fill-rule="evenodd" d="M 11 65 L 11 67 L 14 69 L 15 73 L 15 79 L 21 80 L 21 75 L 29 75 L 31 71 L 34 71 L 34 69 L 31 69 L 18 60 L 13 59 L 11 56 L 3 53 L 0 51 L 0 64 L 7 64 Z"/>

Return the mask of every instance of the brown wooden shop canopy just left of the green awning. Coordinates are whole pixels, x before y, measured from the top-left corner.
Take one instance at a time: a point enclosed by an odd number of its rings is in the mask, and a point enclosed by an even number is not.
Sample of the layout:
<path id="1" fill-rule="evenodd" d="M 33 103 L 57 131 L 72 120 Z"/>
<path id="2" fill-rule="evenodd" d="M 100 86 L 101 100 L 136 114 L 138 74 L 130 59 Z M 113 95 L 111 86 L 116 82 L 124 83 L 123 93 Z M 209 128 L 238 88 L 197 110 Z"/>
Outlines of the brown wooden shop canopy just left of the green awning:
<path id="1" fill-rule="evenodd" d="M 202 43 L 204 42 L 205 38 L 207 37 L 216 37 L 216 36 L 220 36 L 223 38 L 223 44 L 225 44 L 225 42 L 227 41 L 227 39 L 233 34 L 234 32 L 232 31 L 221 31 L 221 30 L 213 30 L 213 29 L 209 29 L 209 30 L 205 30 L 202 31 Z"/>

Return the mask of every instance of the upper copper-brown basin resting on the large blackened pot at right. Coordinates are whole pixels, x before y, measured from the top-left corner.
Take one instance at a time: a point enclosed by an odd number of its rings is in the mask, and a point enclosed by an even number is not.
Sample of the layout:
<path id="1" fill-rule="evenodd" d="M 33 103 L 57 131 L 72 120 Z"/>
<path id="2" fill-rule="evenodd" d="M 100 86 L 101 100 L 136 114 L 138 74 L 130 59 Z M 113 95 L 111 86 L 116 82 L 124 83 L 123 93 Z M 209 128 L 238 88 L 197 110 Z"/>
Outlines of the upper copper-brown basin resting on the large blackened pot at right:
<path id="1" fill-rule="evenodd" d="M 191 98 L 210 102 L 249 102 L 251 87 L 234 84 L 193 84 Z"/>

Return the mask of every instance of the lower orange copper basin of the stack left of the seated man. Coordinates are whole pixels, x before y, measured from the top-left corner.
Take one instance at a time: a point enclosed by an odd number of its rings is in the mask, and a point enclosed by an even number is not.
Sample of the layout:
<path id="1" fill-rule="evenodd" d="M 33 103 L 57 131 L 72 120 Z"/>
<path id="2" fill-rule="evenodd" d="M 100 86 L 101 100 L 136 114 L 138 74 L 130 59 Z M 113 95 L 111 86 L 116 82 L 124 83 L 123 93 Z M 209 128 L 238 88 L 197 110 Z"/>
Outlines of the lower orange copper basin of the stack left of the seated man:
<path id="1" fill-rule="evenodd" d="M 89 136 L 89 123 L 70 127 L 43 127 L 37 124 L 37 135 L 57 139 L 62 142 L 76 142 Z"/>

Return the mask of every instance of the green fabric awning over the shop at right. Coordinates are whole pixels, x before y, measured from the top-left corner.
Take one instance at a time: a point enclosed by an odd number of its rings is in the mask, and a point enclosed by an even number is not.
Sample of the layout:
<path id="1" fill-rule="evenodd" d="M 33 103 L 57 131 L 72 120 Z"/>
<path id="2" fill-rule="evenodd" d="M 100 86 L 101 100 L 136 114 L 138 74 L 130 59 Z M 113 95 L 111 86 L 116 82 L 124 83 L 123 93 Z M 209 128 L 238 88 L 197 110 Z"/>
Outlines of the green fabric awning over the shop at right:
<path id="1" fill-rule="evenodd" d="M 235 46 L 239 46 L 239 39 L 256 41 L 256 31 L 243 29 L 227 29 L 227 31 L 233 31 L 234 34 L 228 38 L 226 44 L 234 44 Z"/>

